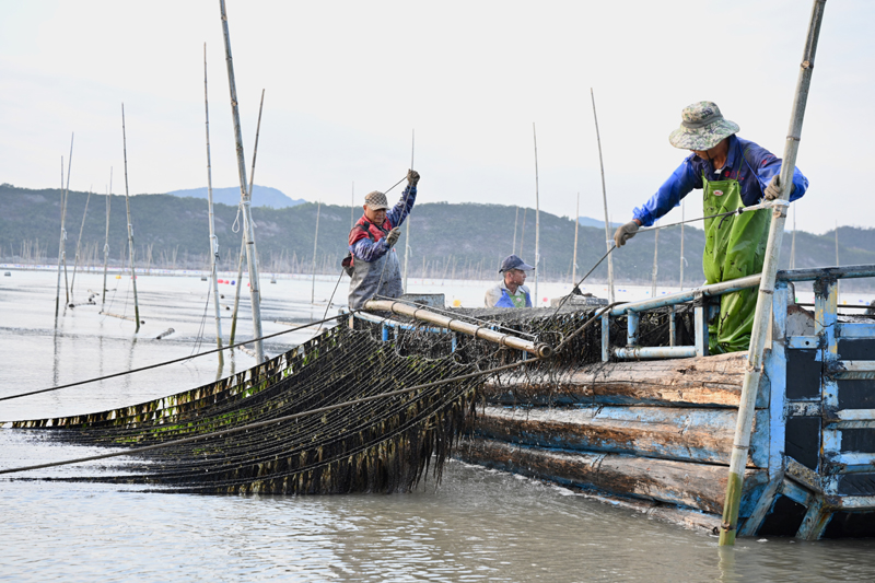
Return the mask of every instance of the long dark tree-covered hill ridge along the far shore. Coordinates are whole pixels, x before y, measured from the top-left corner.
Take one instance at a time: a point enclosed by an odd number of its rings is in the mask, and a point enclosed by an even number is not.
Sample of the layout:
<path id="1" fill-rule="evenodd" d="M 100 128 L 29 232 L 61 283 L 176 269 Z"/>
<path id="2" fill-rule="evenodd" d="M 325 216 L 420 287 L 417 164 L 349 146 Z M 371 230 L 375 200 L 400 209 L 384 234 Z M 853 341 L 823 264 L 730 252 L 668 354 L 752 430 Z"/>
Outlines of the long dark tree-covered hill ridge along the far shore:
<path id="1" fill-rule="evenodd" d="M 85 193 L 71 191 L 67 208 L 67 257 L 72 260 L 85 208 Z M 92 265 L 103 264 L 106 230 L 105 197 L 92 195 L 82 235 L 81 257 Z M 220 266 L 236 270 L 241 234 L 234 230 L 236 199 L 232 206 L 215 205 L 215 234 L 220 245 Z M 172 267 L 205 269 L 209 265 L 209 224 L 203 199 L 168 195 L 135 196 L 130 199 L 139 268 Z M 498 278 L 501 259 L 516 253 L 524 260 L 535 260 L 535 212 L 518 213 L 516 207 L 502 205 L 428 202 L 417 205 L 410 217 L 410 272 L 430 278 Z M 316 269 L 339 273 L 347 254 L 351 221 L 361 208 L 323 205 L 319 212 Z M 280 209 L 257 208 L 253 218 L 259 265 L 264 272 L 311 273 L 313 236 L 317 205 L 306 202 Z M 513 225 L 516 219 L 517 229 Z M 524 220 L 525 219 L 525 220 Z M 110 263 L 127 261 L 127 219 L 125 197 L 112 197 L 109 220 Z M 524 225 L 525 223 L 525 225 Z M 696 224 L 696 223 L 693 223 Z M 447 231 L 450 229 L 450 231 Z M 0 184 L 0 261 L 55 264 L 60 232 L 60 194 L 57 189 L 32 190 Z M 447 233 L 452 232 L 448 236 Z M 514 237 L 514 232 L 516 236 Z M 404 255 L 406 234 L 398 241 Z M 653 272 L 653 233 L 641 233 L 612 254 L 618 282 L 650 283 Z M 790 261 L 792 232 L 783 237 L 780 268 Z M 704 281 L 702 250 L 704 232 L 687 225 L 684 237 L 687 285 Z M 540 213 L 540 265 L 544 281 L 569 281 L 574 252 L 574 221 L 549 212 Z M 581 226 L 578 243 L 576 277 L 583 277 L 605 254 L 605 226 Z M 875 264 L 875 229 L 839 228 L 841 265 Z M 658 281 L 677 285 L 680 265 L 680 229 L 660 231 Z M 836 264 L 836 233 L 824 235 L 796 233 L 798 268 Z M 603 261 L 590 281 L 605 281 L 607 261 Z M 875 279 L 875 278 L 874 278 Z M 842 290 L 868 288 L 872 280 L 847 280 Z"/>

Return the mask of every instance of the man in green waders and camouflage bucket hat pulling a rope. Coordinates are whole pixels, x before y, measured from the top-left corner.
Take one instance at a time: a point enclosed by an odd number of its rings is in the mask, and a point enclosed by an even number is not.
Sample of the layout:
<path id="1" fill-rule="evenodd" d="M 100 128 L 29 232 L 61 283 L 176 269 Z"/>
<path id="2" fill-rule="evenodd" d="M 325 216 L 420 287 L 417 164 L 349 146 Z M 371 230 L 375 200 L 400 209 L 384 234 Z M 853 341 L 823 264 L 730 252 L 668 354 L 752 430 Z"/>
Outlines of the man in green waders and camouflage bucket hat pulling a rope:
<path id="1" fill-rule="evenodd" d="M 650 200 L 632 212 L 632 220 L 617 229 L 614 242 L 622 247 L 640 226 L 653 222 L 680 205 L 693 189 L 702 189 L 704 215 L 720 214 L 781 196 L 781 159 L 736 136 L 738 125 L 725 119 L 713 102 L 684 108 L 681 125 L 668 137 L 675 148 L 692 153 L 675 170 Z M 808 179 L 793 170 L 790 200 L 802 198 Z M 705 219 L 702 269 L 705 283 L 730 281 L 762 271 L 771 211 Z M 757 290 L 721 296 L 720 317 L 709 326 L 712 353 L 747 350 L 754 326 Z"/>

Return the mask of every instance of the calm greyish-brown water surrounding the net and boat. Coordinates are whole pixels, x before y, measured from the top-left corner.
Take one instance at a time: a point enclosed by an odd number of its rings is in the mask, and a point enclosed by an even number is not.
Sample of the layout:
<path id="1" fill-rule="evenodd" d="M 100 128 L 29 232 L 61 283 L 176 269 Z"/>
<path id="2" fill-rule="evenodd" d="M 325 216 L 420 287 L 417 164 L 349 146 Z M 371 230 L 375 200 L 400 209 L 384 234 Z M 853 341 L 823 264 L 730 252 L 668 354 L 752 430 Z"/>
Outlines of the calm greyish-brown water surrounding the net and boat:
<path id="1" fill-rule="evenodd" d="M 77 275 L 77 302 L 101 277 Z M 269 281 L 266 278 L 265 281 Z M 325 313 L 336 279 L 265 283 L 264 331 L 271 320 L 305 322 Z M 447 294 L 475 306 L 485 283 L 419 282 L 411 291 Z M 129 278 L 115 279 L 107 311 L 132 314 Z M 222 305 L 233 304 L 221 285 Z M 562 285 L 544 285 L 561 293 Z M 186 357 L 211 348 L 208 283 L 199 278 L 141 276 L 141 318 L 101 316 L 100 307 L 68 310 L 54 333 L 55 275 L 0 277 L 0 396 L 50 387 Z M 593 290 L 596 291 L 596 290 Z M 623 293 L 642 293 L 629 290 Z M 346 294 L 341 282 L 338 296 Z M 248 305 L 244 293 L 244 305 Z M 107 299 L 107 304 L 109 304 Z M 97 299 L 100 303 L 100 299 Z M 319 303 L 322 302 L 322 303 Z M 223 316 L 230 311 L 224 311 Z M 332 312 L 329 312 L 331 314 Z M 230 319 L 223 320 L 228 336 Z M 240 335 L 250 334 L 241 320 Z M 165 339 L 155 336 L 173 328 Z M 302 331 L 269 342 L 276 354 Z M 219 370 L 215 357 L 129 377 L 0 401 L 0 420 L 71 415 L 176 393 L 250 366 L 237 352 Z M 0 467 L 89 455 L 40 432 L 0 430 Z M 67 466 L 27 477 L 113 471 L 119 460 Z M 21 475 L 24 476 L 24 475 Z M 801 543 L 744 539 L 735 549 L 716 538 L 612 508 L 568 489 L 451 463 L 443 482 L 398 495 L 196 497 L 131 487 L 0 479 L 0 581 L 873 581 L 875 541 Z"/>

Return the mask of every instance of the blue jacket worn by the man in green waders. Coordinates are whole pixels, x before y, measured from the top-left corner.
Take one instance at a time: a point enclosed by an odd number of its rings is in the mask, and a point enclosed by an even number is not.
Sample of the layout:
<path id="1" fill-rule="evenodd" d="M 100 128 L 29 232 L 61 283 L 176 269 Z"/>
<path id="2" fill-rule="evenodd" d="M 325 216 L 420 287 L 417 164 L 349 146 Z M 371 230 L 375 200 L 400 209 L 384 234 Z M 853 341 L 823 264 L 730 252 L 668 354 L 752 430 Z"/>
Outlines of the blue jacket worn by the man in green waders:
<path id="1" fill-rule="evenodd" d="M 745 151 L 743 156 L 742 153 Z M 679 206 L 680 199 L 693 188 L 702 188 L 702 172 L 709 182 L 727 178 L 738 180 L 742 187 L 742 200 L 749 207 L 762 199 L 762 193 L 772 176 L 781 172 L 781 159 L 751 141 L 730 136 L 730 153 L 721 174 L 714 172 L 711 162 L 690 154 L 650 200 L 632 211 L 632 217 L 641 221 L 643 226 L 652 225 L 656 219 Z M 790 195 L 790 200 L 802 198 L 807 189 L 808 178 L 802 175 L 800 168 L 794 168 L 793 193 Z"/>

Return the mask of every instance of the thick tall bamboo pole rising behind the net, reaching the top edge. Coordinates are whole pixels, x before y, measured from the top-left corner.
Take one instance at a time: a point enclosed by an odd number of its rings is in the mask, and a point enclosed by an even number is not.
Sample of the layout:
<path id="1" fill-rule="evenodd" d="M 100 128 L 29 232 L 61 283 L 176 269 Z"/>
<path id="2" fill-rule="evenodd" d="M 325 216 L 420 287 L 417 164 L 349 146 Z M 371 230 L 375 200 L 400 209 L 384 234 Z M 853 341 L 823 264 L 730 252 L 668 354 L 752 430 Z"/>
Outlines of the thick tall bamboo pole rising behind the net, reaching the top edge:
<path id="1" fill-rule="evenodd" d="M 219 0 L 222 13 L 222 30 L 225 37 L 225 58 L 228 61 L 228 86 L 231 91 L 231 112 L 234 121 L 234 137 L 237 142 L 237 172 L 240 174 L 240 196 L 243 203 L 243 229 L 246 233 L 246 261 L 249 265 L 249 295 L 252 298 L 253 335 L 255 336 L 255 360 L 259 363 L 265 360 L 261 346 L 261 302 L 258 291 L 258 258 L 255 249 L 255 230 L 253 229 L 252 200 L 246 187 L 246 162 L 243 155 L 243 133 L 240 127 L 240 110 L 237 102 L 237 88 L 234 81 L 234 61 L 231 57 L 231 36 L 228 32 L 228 14 L 225 0 Z M 262 93 L 264 94 L 264 93 Z M 240 283 L 237 283 L 240 284 Z"/>

